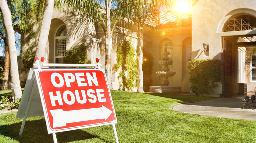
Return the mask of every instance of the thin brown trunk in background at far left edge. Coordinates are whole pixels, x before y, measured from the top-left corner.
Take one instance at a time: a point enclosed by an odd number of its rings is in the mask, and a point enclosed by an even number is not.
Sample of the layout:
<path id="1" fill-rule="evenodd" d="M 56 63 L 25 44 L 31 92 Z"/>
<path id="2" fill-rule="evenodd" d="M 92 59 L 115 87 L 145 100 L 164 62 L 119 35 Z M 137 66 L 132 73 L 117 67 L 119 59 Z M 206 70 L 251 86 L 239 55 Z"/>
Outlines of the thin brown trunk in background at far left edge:
<path id="1" fill-rule="evenodd" d="M 8 46 L 7 41 L 4 41 L 5 43 L 5 65 L 4 65 L 4 77 L 2 82 L 2 90 L 8 89 L 8 79 L 9 79 L 9 53 L 8 53 Z"/>

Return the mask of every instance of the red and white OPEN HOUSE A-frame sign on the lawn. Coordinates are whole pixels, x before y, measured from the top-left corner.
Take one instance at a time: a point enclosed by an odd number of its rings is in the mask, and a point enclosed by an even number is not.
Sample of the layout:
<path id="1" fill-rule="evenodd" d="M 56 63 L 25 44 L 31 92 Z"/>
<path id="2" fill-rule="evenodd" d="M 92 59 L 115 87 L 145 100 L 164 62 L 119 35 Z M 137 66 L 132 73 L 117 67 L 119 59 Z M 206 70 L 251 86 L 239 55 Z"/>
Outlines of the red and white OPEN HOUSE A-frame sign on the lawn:
<path id="1" fill-rule="evenodd" d="M 98 64 L 44 64 L 35 57 L 37 69 L 30 69 L 16 118 L 44 115 L 48 134 L 112 124 L 118 143 L 116 113 L 103 69 Z M 92 67 L 92 68 L 42 68 Z"/>

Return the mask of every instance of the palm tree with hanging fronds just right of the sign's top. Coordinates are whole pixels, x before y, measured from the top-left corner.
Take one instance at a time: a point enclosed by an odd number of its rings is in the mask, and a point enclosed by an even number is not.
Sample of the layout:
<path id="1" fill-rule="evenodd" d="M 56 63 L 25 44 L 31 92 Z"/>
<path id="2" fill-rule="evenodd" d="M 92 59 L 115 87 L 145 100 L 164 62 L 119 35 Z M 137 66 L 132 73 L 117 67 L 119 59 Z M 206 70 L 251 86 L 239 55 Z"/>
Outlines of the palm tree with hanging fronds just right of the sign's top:
<path id="1" fill-rule="evenodd" d="M 60 4 L 65 4 L 67 11 L 77 12 L 81 16 L 81 20 L 86 19 L 88 23 L 94 22 L 100 24 L 105 34 L 105 72 L 108 80 L 109 88 L 112 89 L 112 35 L 115 25 L 119 19 L 117 13 L 111 11 L 115 8 L 117 1 L 115 0 L 60 0 Z M 114 24 L 111 27 L 111 24 Z"/>

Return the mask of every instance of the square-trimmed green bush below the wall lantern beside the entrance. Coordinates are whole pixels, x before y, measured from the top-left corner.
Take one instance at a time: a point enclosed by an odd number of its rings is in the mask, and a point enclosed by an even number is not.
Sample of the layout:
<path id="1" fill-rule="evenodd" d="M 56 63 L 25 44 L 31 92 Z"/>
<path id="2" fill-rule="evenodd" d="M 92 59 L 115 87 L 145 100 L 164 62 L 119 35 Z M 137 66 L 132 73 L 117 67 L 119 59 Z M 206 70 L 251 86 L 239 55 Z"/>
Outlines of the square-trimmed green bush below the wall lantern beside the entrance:
<path id="1" fill-rule="evenodd" d="M 192 60 L 189 63 L 190 90 L 196 95 L 203 96 L 213 92 L 213 88 L 221 81 L 220 60 Z"/>

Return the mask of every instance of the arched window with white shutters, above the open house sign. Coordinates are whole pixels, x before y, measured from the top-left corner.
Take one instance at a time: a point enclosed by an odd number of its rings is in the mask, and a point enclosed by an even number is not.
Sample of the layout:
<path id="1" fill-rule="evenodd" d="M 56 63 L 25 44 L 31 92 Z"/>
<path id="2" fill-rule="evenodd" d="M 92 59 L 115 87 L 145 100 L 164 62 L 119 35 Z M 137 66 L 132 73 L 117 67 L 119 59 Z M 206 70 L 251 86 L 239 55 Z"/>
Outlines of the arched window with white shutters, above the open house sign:
<path id="1" fill-rule="evenodd" d="M 55 41 L 55 48 L 54 48 L 55 63 L 64 63 L 62 54 L 66 52 L 66 45 L 67 45 L 66 25 L 62 25 L 58 28 L 54 37 L 54 41 Z"/>

